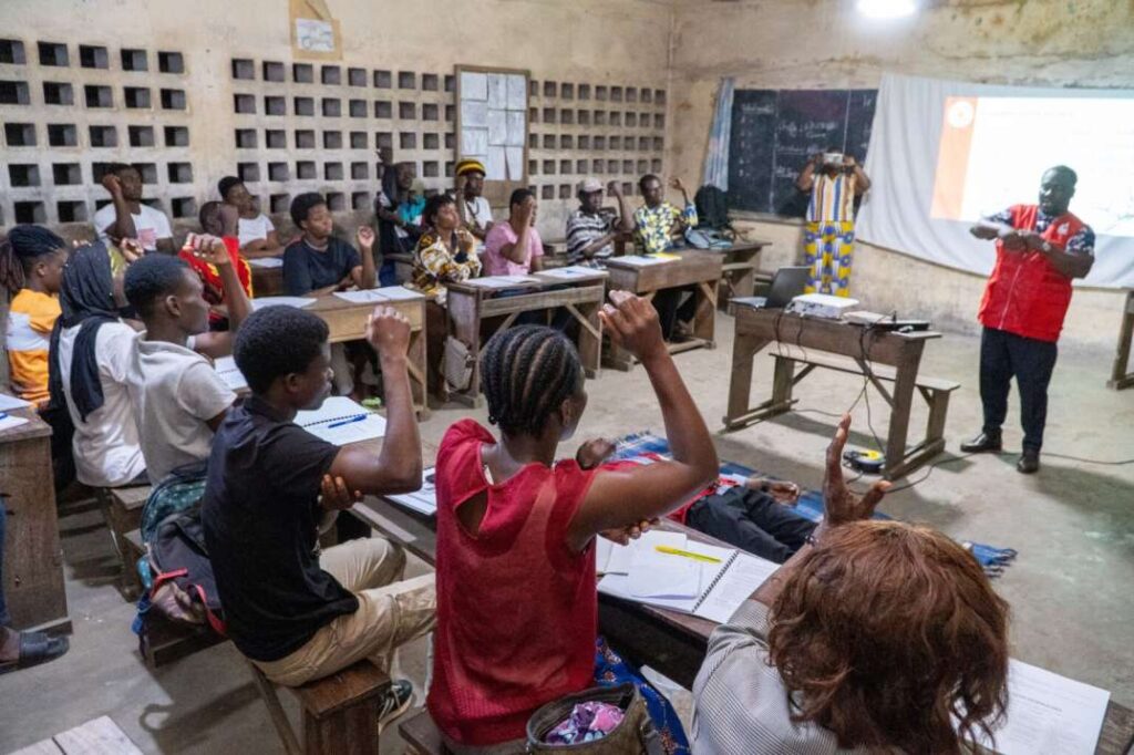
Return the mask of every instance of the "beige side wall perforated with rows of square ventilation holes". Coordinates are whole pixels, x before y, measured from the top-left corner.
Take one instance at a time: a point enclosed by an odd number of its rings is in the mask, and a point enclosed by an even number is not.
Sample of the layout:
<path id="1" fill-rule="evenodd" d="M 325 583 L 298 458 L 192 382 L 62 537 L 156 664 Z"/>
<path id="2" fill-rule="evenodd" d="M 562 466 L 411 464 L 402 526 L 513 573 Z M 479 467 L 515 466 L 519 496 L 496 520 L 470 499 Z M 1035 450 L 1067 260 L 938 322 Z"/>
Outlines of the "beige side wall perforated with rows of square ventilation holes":
<path id="1" fill-rule="evenodd" d="M 415 0 L 414 2 L 364 2 L 361 0 L 327 0 L 339 22 L 342 59 L 328 61 L 341 67 L 342 85 L 321 86 L 321 63 L 314 62 L 315 83 L 297 85 L 291 79 L 291 63 L 302 62 L 293 54 L 287 0 L 3 0 L 0 2 L 0 40 L 24 43 L 25 65 L 0 62 L 0 83 L 25 85 L 26 104 L 0 103 L 0 121 L 28 124 L 37 132 L 35 146 L 19 146 L 18 129 L 0 142 L 0 228 L 15 222 L 15 202 L 25 212 L 34 210 L 37 219 L 57 224 L 68 213 L 90 218 L 96 202 L 104 201 L 104 190 L 94 186 L 98 166 L 111 160 L 142 162 L 151 167 L 152 184 L 147 198 L 155 198 L 183 228 L 195 223 L 197 206 L 215 198 L 215 181 L 237 171 L 245 163 L 259 173 L 248 180 L 249 188 L 261 198 L 264 211 L 286 214 L 288 193 L 322 190 L 335 195 L 344 210 L 344 224 L 369 217 L 374 179 L 374 149 L 379 134 L 392 139 L 396 160 L 413 160 L 426 185 L 439 189 L 452 185 L 451 167 L 454 124 L 446 120 L 446 105 L 454 94 L 446 91 L 446 76 L 451 78 L 457 63 L 514 67 L 531 70 L 534 95 L 531 126 L 532 149 L 530 181 L 544 198 L 540 227 L 545 238 L 564 235 L 564 219 L 575 205 L 577 181 L 593 172 L 601 158 L 601 177 L 631 181 L 638 168 L 661 168 L 665 112 L 665 87 L 668 71 L 670 3 L 661 0 Z M 303 3 L 301 3 L 303 5 Z M 320 5 L 319 2 L 313 3 Z M 44 67 L 39 60 L 39 42 L 66 45 L 69 65 Z M 633 42 L 631 42 L 633 41 Z M 105 48 L 109 68 L 88 69 L 81 66 L 79 45 Z M 149 71 L 124 70 L 120 50 L 139 49 L 149 56 Z M 175 51 L 183 54 L 185 71 L 168 74 L 159 70 L 158 53 Z M 2 56 L 0 56 L 2 58 Z M 249 59 L 254 78 L 236 80 L 234 59 Z M 285 82 L 264 82 L 264 61 L 281 62 Z M 348 86 L 348 69 L 365 69 L 365 85 Z M 372 74 L 390 73 L 389 88 L 374 86 Z M 413 73 L 413 85 L 400 88 L 403 73 Z M 435 77 L 438 87 L 424 91 L 423 77 Z M 71 105 L 46 104 L 42 84 L 71 85 Z M 593 108 L 619 112 L 649 111 L 649 127 L 633 130 L 631 139 L 619 150 L 604 145 L 601 154 L 578 150 L 576 135 L 587 135 L 591 128 L 578 126 L 575 119 L 562 125 L 562 117 L 547 124 L 548 111 L 559 116 L 560 109 L 583 108 L 576 101 L 577 88 L 560 90 L 564 83 L 592 87 Z M 550 84 L 550 86 L 549 86 Z M 91 109 L 85 103 L 85 86 L 108 86 L 112 107 Z M 126 107 L 125 87 L 149 88 L 149 108 Z M 621 102 L 595 102 L 599 90 L 613 100 L 631 90 L 650 91 L 650 103 L 633 107 Z M 184 94 L 184 109 L 167 109 L 161 90 Z M 340 100 L 341 116 L 324 118 L 321 99 Z M 255 114 L 234 113 L 234 94 L 251 93 Z M 285 97 L 284 116 L 264 112 L 264 94 Z M 566 96 L 569 94 L 570 96 Z M 315 116 L 305 119 L 293 113 L 294 96 L 311 96 Z M 564 96 L 560 96 L 564 95 Z M 660 95 L 660 96 L 655 96 Z M 177 95 L 175 95 L 177 96 Z M 365 101 L 365 114 L 353 117 L 349 100 Z M 373 101 L 391 103 L 392 117 L 376 118 Z M 657 104 L 660 100 L 660 104 Z M 400 105 L 413 103 L 413 118 L 401 119 Z M 426 104 L 437 105 L 438 120 L 425 121 Z M 592 104 L 586 104 L 590 110 Z M 451 109 L 450 109 L 451 114 Z M 660 118 L 658 117 L 660 116 Z M 637 121 L 635 113 L 634 120 Z M 73 127 L 74 146 L 50 146 L 49 125 Z M 115 126 L 118 146 L 92 146 L 90 127 Z M 154 146 L 129 146 L 129 127 L 152 127 Z M 166 129 L 187 129 L 188 146 L 166 146 Z M 296 150 L 296 129 L 314 130 L 318 149 Z M 236 130 L 255 132 L 255 149 L 237 149 Z M 269 149 L 266 130 L 284 132 L 282 149 Z M 341 147 L 324 150 L 323 130 L 338 130 Z M 357 146 L 353 134 L 357 133 Z M 403 149 L 403 133 L 414 135 L 412 149 Z M 599 129 L 606 138 L 621 134 L 620 128 Z M 176 138 L 176 132 L 174 136 Z M 184 136 L 184 132 L 180 132 Z M 567 134 L 570 138 L 564 139 Z M 363 135 L 365 139 L 363 141 Z M 67 135 L 60 133 L 59 138 Z M 637 138 L 638 136 L 645 139 Z M 435 144 L 428 144 L 431 139 Z M 564 143 L 568 147 L 561 149 Z M 641 147 L 646 147 L 645 150 Z M 298 178 L 301 170 L 314 171 L 314 177 Z M 327 162 L 332 166 L 328 177 Z M 617 163 L 617 166 L 615 164 Z M 59 168 L 57 168 L 59 166 Z M 37 176 L 28 177 L 34 167 Z M 617 168 L 612 170 L 612 168 Z M 628 170 L 627 170 L 628 169 Z M 58 172 L 57 172 L 58 171 Z M 585 171 L 585 172 L 584 172 Z M 341 173 L 341 177 L 339 175 Z M 272 180 L 279 178 L 280 180 Z M 29 186 L 18 186 L 27 184 Z M 553 197 L 553 198 L 551 198 Z M 35 203 L 39 203 L 36 205 Z M 62 203 L 62 204 L 61 204 Z M 362 212 L 361 207 L 367 207 Z M 359 209 L 352 217 L 350 209 Z"/>

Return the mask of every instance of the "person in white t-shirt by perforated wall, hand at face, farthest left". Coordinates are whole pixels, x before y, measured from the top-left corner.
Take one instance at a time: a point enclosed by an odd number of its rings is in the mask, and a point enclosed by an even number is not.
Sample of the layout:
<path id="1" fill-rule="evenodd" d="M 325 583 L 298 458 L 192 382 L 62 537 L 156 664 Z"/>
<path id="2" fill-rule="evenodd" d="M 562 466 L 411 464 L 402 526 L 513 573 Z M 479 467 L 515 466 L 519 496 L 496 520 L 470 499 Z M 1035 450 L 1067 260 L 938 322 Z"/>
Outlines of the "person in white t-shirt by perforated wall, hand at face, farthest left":
<path id="1" fill-rule="evenodd" d="M 146 252 L 174 254 L 174 231 L 161 210 L 142 204 L 142 173 L 122 162 L 112 162 L 102 176 L 110 204 L 94 213 L 99 240 L 120 247 L 122 239 L 137 239 Z"/>

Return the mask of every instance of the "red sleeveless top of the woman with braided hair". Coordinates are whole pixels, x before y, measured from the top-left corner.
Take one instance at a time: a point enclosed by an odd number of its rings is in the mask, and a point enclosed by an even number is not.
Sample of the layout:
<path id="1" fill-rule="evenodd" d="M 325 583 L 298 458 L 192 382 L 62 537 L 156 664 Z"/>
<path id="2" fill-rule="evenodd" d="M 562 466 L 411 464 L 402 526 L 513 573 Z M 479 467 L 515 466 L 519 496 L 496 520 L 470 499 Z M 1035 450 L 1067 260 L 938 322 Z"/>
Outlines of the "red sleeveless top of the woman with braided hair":
<path id="1" fill-rule="evenodd" d="M 530 464 L 489 485 L 473 419 L 449 427 L 437 455 L 437 630 L 429 712 L 463 745 L 524 736 L 540 705 L 594 684 L 594 548 L 572 553 L 567 527 L 594 472 L 573 459 Z M 457 508 L 488 495 L 476 535 Z"/>

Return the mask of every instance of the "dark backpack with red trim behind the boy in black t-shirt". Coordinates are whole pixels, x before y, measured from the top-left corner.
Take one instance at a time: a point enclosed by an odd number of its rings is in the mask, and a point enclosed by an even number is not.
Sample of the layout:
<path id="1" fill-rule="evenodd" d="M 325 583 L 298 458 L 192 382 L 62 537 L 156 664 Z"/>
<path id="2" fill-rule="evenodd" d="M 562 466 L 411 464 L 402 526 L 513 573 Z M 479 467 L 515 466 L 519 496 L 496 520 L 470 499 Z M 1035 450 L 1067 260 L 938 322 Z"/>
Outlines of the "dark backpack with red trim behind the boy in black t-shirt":
<path id="1" fill-rule="evenodd" d="M 146 553 L 138 559 L 137 569 L 146 589 L 134 622 L 139 636 L 151 611 L 177 623 L 208 623 L 225 634 L 201 524 L 206 470 L 206 461 L 178 467 L 153 489 L 142 508 Z"/>

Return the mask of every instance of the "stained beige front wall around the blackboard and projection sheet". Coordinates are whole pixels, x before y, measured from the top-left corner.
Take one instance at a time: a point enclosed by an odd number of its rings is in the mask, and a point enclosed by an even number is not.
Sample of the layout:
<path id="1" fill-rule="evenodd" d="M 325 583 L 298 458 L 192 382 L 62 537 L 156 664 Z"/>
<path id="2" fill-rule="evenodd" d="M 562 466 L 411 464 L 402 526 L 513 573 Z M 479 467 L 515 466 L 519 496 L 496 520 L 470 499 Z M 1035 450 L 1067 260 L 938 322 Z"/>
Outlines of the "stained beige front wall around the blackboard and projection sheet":
<path id="1" fill-rule="evenodd" d="M 720 78 L 738 88 L 877 87 L 883 73 L 1018 85 L 1134 87 L 1134 2 L 947 0 L 909 19 L 869 22 L 847 0 L 678 0 L 668 167 L 700 183 Z M 1005 197 L 1006 203 L 1021 197 Z M 1024 197 L 1026 198 L 1026 197 Z M 1074 205 L 1073 205 L 1074 209 Z M 738 226 L 776 241 L 762 266 L 792 263 L 798 223 Z M 853 291 L 879 311 L 975 331 L 983 279 L 857 245 Z M 1123 295 L 1078 290 L 1065 343 L 1112 348 Z"/>

